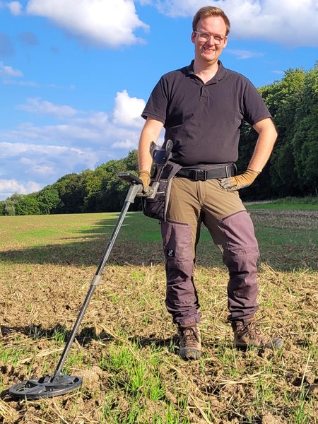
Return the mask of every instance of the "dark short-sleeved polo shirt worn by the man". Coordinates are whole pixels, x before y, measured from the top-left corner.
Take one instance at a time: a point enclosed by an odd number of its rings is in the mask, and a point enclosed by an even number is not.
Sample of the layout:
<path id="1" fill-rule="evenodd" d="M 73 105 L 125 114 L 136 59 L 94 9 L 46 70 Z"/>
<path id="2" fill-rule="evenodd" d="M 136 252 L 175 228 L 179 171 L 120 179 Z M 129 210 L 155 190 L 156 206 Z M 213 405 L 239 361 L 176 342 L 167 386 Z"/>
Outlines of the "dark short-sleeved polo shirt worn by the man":
<path id="1" fill-rule="evenodd" d="M 193 63 L 160 78 L 142 117 L 163 122 L 180 165 L 236 162 L 242 122 L 254 125 L 271 114 L 245 76 L 219 61 L 216 75 L 203 83 Z"/>

